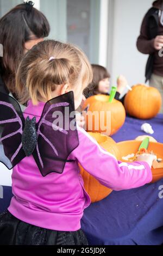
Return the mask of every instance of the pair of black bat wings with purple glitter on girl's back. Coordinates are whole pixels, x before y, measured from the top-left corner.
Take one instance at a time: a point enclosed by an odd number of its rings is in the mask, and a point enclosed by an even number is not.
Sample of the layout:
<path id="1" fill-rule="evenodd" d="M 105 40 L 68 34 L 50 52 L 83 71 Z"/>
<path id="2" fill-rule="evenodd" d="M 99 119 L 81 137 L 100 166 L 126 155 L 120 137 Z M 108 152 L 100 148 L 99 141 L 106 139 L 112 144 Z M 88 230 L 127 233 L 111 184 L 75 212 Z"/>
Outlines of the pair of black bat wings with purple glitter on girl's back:
<path id="1" fill-rule="evenodd" d="M 65 163 L 72 161 L 68 156 L 79 145 L 74 111 L 73 92 L 69 92 L 48 101 L 36 123 L 35 117 L 24 119 L 14 98 L 0 93 L 0 162 L 12 169 L 33 155 L 42 176 L 62 173 Z"/>

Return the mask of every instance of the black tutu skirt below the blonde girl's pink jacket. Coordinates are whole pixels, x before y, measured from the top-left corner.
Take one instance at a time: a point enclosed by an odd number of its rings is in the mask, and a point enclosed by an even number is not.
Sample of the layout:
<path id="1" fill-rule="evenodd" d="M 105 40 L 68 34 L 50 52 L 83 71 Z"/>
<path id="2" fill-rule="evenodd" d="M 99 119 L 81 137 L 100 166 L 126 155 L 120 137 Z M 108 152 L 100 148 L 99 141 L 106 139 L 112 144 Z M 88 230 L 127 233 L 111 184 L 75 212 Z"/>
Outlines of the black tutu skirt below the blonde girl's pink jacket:
<path id="1" fill-rule="evenodd" d="M 9 211 L 0 215 L 0 245 L 88 245 L 82 230 L 55 231 L 22 222 Z"/>

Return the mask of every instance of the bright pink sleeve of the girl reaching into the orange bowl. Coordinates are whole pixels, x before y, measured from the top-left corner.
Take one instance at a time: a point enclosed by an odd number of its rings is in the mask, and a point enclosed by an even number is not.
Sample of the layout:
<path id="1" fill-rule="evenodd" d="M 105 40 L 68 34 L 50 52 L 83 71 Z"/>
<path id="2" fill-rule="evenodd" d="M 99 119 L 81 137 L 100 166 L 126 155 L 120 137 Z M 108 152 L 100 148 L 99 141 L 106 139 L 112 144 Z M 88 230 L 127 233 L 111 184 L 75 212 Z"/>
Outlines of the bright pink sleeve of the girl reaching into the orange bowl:
<path id="1" fill-rule="evenodd" d="M 152 181 L 146 162 L 123 163 L 102 149 L 84 129 L 78 127 L 79 146 L 72 153 L 83 168 L 112 190 L 128 190 Z"/>

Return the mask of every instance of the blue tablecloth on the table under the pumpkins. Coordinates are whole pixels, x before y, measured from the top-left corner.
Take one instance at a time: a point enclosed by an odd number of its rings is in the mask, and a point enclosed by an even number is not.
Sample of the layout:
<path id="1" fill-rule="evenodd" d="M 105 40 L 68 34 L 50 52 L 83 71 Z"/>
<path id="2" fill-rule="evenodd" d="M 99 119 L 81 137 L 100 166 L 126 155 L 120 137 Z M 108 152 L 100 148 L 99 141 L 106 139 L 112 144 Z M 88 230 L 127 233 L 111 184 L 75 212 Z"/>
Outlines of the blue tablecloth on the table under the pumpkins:
<path id="1" fill-rule="evenodd" d="M 116 142 L 146 135 L 141 125 L 152 125 L 152 135 L 163 143 L 163 115 L 152 120 L 127 117 L 112 138 Z M 134 190 L 112 192 L 84 211 L 82 229 L 91 245 L 160 245 L 163 243 L 163 199 L 159 187 L 163 180 Z M 162 187 L 163 190 L 163 187 Z M 163 192 L 162 192 L 163 195 Z"/>

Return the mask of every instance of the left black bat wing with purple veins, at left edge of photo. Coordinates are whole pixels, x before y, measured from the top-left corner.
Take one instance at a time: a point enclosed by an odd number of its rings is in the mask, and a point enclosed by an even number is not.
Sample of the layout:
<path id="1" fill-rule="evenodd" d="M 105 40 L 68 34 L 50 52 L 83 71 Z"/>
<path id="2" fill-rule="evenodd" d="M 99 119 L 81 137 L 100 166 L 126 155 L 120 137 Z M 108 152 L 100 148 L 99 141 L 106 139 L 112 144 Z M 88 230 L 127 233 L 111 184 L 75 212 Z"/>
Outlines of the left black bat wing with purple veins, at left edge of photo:
<path id="1" fill-rule="evenodd" d="M 22 149 L 24 117 L 18 102 L 0 93 L 0 162 L 12 169 L 26 155 Z"/>

